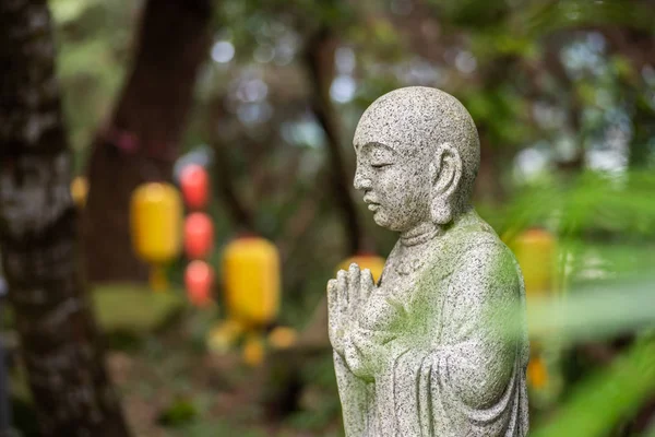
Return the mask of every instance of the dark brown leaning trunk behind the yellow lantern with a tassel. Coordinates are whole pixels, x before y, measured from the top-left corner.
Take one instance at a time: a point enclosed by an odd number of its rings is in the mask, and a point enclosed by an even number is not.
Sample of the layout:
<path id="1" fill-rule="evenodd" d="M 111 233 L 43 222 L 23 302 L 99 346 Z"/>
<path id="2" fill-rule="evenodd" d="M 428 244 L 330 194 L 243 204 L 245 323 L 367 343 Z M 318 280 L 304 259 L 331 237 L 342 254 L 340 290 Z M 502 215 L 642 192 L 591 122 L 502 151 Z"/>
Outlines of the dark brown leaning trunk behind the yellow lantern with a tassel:
<path id="1" fill-rule="evenodd" d="M 146 265 L 132 252 L 130 196 L 153 180 L 169 181 L 195 76 L 211 40 L 210 0 L 148 0 L 132 73 L 88 164 L 85 244 L 92 281 L 142 281 Z"/>

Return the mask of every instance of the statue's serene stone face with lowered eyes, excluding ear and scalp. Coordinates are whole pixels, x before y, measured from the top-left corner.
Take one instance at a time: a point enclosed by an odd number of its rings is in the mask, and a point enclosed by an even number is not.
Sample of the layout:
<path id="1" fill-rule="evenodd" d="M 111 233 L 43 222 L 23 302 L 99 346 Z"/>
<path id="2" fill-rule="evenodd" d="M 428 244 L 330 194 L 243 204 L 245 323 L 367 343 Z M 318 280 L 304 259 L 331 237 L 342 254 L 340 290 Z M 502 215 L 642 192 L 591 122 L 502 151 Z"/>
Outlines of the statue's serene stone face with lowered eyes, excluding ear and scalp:
<path id="1" fill-rule="evenodd" d="M 429 220 L 428 163 L 420 154 L 380 142 L 355 144 L 355 152 L 354 186 L 378 225 L 405 232 Z"/>

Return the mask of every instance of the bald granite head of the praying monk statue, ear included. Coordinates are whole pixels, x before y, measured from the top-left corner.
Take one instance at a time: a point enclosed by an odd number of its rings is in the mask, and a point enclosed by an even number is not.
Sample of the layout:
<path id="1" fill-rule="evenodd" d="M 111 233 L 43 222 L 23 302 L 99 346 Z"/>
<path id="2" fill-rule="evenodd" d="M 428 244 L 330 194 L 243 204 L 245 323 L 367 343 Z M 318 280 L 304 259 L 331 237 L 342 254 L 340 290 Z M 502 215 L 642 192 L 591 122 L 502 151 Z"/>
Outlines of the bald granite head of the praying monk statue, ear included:
<path id="1" fill-rule="evenodd" d="M 446 225 L 468 210 L 480 145 L 471 115 L 450 94 L 425 86 L 384 94 L 361 116 L 353 143 L 354 185 L 378 225 Z"/>

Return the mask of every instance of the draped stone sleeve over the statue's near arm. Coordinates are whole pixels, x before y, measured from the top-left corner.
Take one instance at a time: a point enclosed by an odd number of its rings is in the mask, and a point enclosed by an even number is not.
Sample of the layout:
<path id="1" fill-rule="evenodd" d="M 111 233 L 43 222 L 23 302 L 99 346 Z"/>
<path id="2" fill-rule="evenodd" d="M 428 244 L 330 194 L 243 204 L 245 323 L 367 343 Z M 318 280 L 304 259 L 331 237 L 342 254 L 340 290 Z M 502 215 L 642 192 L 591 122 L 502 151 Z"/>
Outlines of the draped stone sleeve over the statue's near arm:
<path id="1" fill-rule="evenodd" d="M 416 436 L 519 436 L 523 287 L 509 250 L 484 243 L 461 253 L 442 290 L 429 351 L 396 357 L 385 411 Z M 428 312 L 429 314 L 429 312 Z M 505 434 L 507 433 L 507 434 Z"/>

